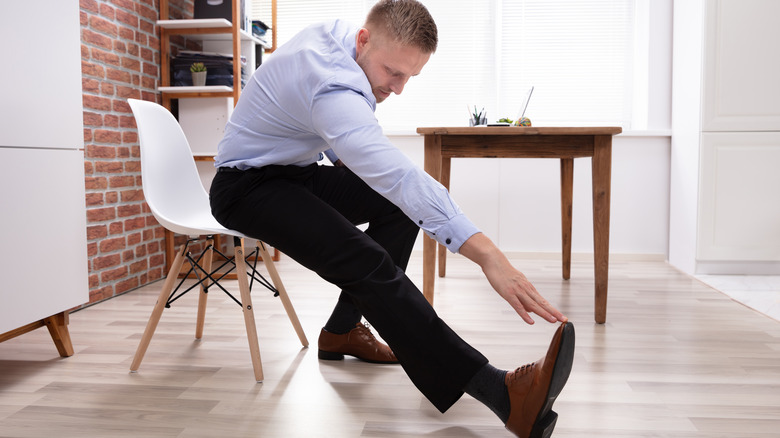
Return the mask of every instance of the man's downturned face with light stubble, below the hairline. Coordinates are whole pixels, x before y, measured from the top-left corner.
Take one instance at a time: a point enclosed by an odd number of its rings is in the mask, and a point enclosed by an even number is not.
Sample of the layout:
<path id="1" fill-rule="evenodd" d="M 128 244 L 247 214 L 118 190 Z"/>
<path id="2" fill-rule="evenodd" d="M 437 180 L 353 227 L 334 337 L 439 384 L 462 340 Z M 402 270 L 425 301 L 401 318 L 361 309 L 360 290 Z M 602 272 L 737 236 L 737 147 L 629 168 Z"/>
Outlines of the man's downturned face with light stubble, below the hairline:
<path id="1" fill-rule="evenodd" d="M 430 57 L 430 53 L 390 42 L 368 29 L 358 31 L 355 61 L 366 74 L 377 103 L 390 93 L 401 94 L 409 78 L 420 74 Z"/>

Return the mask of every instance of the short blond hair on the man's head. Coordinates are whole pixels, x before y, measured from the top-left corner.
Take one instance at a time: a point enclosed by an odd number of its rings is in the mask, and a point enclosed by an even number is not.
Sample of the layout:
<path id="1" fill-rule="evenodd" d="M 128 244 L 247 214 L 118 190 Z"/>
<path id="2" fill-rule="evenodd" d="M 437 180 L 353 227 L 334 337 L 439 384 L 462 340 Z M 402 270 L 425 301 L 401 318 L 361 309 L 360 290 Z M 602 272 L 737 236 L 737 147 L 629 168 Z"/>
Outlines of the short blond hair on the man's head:
<path id="1" fill-rule="evenodd" d="M 365 27 L 378 30 L 391 41 L 433 53 L 439 42 L 433 17 L 416 0 L 380 0 L 369 11 Z"/>

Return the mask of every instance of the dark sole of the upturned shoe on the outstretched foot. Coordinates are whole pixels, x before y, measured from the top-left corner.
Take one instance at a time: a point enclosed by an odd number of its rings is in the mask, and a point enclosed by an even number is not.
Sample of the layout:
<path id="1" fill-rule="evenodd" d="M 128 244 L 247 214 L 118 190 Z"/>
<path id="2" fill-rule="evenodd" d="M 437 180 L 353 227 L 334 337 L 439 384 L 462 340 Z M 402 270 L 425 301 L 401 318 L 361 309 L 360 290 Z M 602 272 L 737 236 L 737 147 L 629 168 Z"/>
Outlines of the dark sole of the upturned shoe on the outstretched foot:
<path id="1" fill-rule="evenodd" d="M 561 393 L 566 381 L 571 374 L 571 366 L 574 362 L 574 325 L 567 322 L 563 326 L 561 333 L 561 345 L 558 347 L 558 355 L 553 366 L 553 375 L 550 379 L 550 386 L 547 388 L 547 397 L 536 416 L 533 428 L 529 438 L 549 438 L 558 421 L 558 414 L 552 410 L 552 405 L 558 394 Z"/>

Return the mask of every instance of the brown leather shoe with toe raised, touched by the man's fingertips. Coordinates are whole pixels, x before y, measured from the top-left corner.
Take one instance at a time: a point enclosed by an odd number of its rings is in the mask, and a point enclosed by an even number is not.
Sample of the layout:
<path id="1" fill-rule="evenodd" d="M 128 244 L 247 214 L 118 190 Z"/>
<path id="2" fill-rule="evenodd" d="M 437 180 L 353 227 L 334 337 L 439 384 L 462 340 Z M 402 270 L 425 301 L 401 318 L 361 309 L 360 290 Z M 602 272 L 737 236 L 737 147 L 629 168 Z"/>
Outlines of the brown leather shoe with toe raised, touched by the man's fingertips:
<path id="1" fill-rule="evenodd" d="M 552 404 L 566 384 L 574 360 L 574 326 L 564 322 L 547 355 L 508 372 L 505 378 L 511 411 L 506 428 L 523 438 L 548 438 L 558 414 Z"/>

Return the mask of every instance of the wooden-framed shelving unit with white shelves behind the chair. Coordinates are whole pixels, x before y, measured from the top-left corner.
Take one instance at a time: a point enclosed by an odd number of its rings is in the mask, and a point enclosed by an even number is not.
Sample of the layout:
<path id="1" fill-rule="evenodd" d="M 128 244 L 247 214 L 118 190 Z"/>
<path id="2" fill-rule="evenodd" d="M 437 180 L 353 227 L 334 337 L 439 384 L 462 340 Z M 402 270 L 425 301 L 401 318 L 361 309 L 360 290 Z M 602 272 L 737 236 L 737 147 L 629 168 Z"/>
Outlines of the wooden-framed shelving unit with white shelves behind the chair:
<path id="1" fill-rule="evenodd" d="M 171 20 L 169 19 L 169 0 L 160 0 L 160 19 L 157 21 L 157 26 L 160 28 L 160 70 L 161 80 L 160 86 L 157 88 L 162 98 L 162 105 L 169 110 L 171 109 L 171 101 L 174 99 L 180 99 L 179 108 L 179 121 L 183 122 L 183 118 L 187 117 L 187 108 L 184 106 L 197 106 L 199 108 L 217 107 L 222 113 L 225 113 L 225 106 L 229 107 L 227 114 L 219 114 L 212 119 L 229 117 L 229 111 L 238 102 L 238 98 L 241 95 L 241 53 L 242 49 L 247 54 L 245 72 L 246 78 L 254 73 L 255 70 L 255 47 L 262 46 L 267 53 L 273 52 L 276 49 L 276 0 L 271 1 L 271 27 L 274 30 L 272 45 L 269 46 L 260 39 L 254 37 L 251 34 L 251 29 L 241 29 L 241 0 L 231 0 L 232 8 L 232 21 L 225 18 L 205 18 L 205 19 L 181 19 Z M 236 19 L 238 17 L 238 19 Z M 227 53 L 231 52 L 233 55 L 233 86 L 225 85 L 207 85 L 207 86 L 172 86 L 171 84 L 171 56 L 170 45 L 172 35 L 183 35 L 189 40 L 200 41 L 203 50 L 207 52 Z M 188 99 L 209 99 L 204 100 L 202 105 L 185 105 L 188 103 Z M 228 103 L 217 102 L 215 105 L 214 98 L 232 99 L 232 102 Z M 218 100 L 218 99 L 217 99 Z M 182 123 L 182 128 L 187 134 L 185 123 Z M 193 135 L 198 138 L 198 135 Z M 190 139 L 192 142 L 193 139 Z M 215 145 L 216 146 L 216 145 Z M 196 161 L 213 161 L 213 153 L 199 152 L 195 154 Z M 174 257 L 174 235 L 172 232 L 165 231 L 165 259 L 166 259 L 166 271 L 173 261 Z M 278 259 L 278 252 L 274 252 L 274 258 Z"/>

